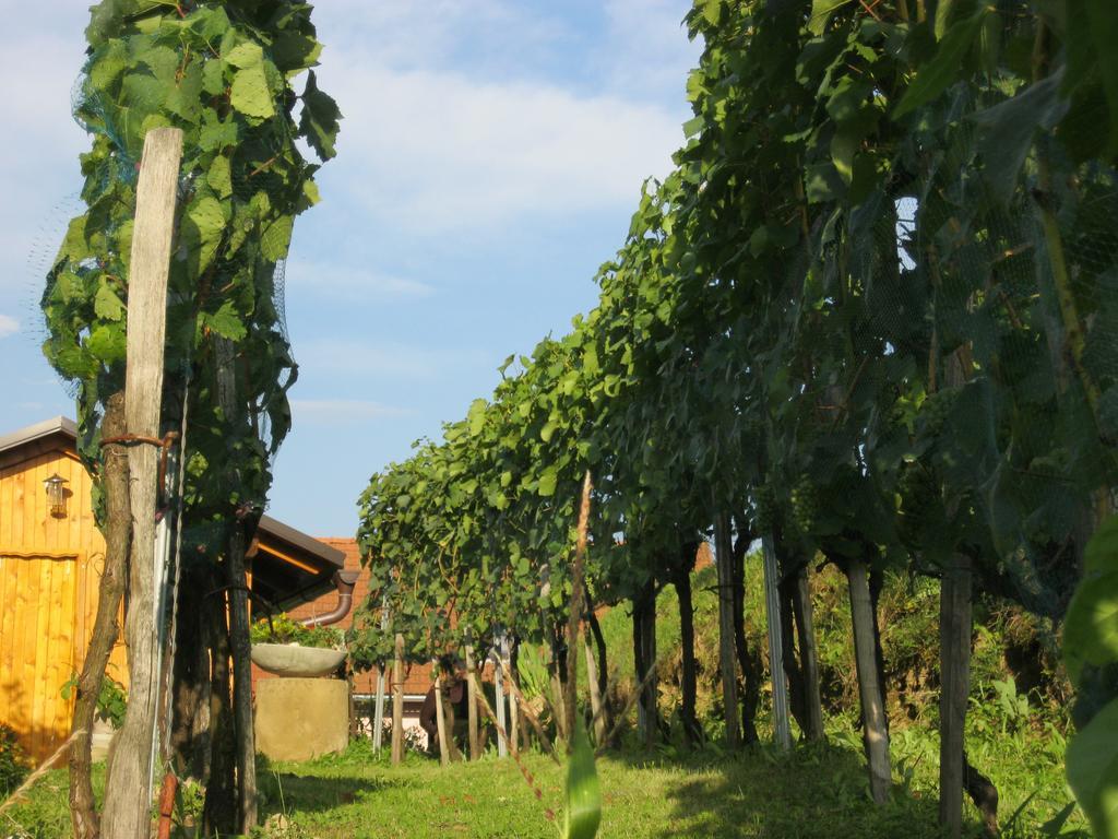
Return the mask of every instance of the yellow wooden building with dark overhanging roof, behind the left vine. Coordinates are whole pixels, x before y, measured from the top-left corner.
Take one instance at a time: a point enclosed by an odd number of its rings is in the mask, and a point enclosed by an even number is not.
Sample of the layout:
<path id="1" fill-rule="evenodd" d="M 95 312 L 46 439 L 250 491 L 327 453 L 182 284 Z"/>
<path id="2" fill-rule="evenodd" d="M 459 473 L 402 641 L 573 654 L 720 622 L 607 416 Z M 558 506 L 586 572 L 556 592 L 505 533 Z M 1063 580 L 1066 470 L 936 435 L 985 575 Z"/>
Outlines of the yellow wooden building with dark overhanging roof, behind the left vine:
<path id="1" fill-rule="evenodd" d="M 0 436 L 0 723 L 36 761 L 69 735 L 63 687 L 85 659 L 104 565 L 76 432 L 56 417 Z M 268 517 L 255 547 L 253 588 L 283 609 L 334 587 L 344 565 L 342 552 Z M 124 652 L 119 642 L 108 675 L 126 684 Z"/>

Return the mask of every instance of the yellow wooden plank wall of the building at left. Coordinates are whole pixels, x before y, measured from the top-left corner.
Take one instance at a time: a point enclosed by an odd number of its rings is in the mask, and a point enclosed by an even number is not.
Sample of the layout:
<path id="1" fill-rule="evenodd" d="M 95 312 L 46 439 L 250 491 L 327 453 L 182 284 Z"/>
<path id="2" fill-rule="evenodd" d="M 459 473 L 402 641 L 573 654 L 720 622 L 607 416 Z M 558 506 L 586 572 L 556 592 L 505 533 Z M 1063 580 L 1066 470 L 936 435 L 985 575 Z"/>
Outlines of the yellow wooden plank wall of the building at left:
<path id="1" fill-rule="evenodd" d="M 0 723 L 41 761 L 69 734 L 73 699 L 61 689 L 89 643 L 105 544 L 80 462 L 45 447 L 29 454 L 0 468 Z M 47 507 L 44 481 L 55 472 L 69 481 L 66 518 Z M 117 643 L 108 672 L 126 684 L 125 667 Z"/>

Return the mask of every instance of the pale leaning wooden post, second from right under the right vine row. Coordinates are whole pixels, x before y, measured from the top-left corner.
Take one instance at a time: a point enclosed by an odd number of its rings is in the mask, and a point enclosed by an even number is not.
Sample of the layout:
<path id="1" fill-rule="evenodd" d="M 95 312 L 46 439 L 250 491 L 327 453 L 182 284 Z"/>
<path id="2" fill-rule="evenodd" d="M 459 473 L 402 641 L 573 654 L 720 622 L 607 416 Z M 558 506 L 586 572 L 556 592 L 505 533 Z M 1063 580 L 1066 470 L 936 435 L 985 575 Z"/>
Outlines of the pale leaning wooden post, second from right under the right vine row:
<path id="1" fill-rule="evenodd" d="M 870 793 L 874 802 L 883 804 L 889 800 L 892 769 L 889 762 L 889 729 L 885 726 L 885 709 L 881 700 L 881 685 L 878 679 L 878 661 L 873 640 L 875 621 L 865 563 L 862 560 L 846 563 L 846 581 L 850 587 L 850 611 L 854 624 L 854 660 L 858 669 L 859 692 L 862 697 L 862 733 L 870 770 Z"/>

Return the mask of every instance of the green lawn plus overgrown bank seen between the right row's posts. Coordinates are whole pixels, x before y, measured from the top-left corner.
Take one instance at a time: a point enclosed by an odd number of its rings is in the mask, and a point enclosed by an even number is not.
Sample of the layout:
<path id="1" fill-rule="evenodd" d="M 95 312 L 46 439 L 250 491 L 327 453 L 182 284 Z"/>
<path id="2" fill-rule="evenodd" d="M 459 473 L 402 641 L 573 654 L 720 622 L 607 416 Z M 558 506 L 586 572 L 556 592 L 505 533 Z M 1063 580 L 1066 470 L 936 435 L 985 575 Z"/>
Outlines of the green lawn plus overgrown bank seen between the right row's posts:
<path id="1" fill-rule="evenodd" d="M 757 577 L 756 569 L 754 576 Z M 938 796 L 937 686 L 929 681 L 937 662 L 938 602 L 932 584 L 892 584 L 883 600 L 883 625 L 891 695 L 891 757 L 894 793 L 882 808 L 869 799 L 861 738 L 856 728 L 856 686 L 852 681 L 847 612 L 840 606 L 841 581 L 816 578 L 821 658 L 826 676 L 825 717 L 828 745 L 797 745 L 788 755 L 768 746 L 727 753 L 718 719 L 717 602 L 711 572 L 695 575 L 699 707 L 712 743 L 691 752 L 673 725 L 671 745 L 648 752 L 626 746 L 598 762 L 604 796 L 599 836 L 609 837 L 768 837 L 773 839 L 845 839 L 900 837 L 932 839 Z M 752 579 L 749 630 L 764 645 L 762 613 L 756 604 L 759 579 Z M 667 652 L 661 681 L 661 711 L 675 719 L 679 686 L 679 616 L 671 590 L 661 594 L 659 647 Z M 1064 704 L 1046 689 L 1032 688 L 1029 701 L 1004 696 L 1027 672 L 1008 667 L 1015 635 L 1033 635 L 1025 618 L 997 612 L 984 615 L 976 630 L 974 689 L 967 722 L 970 760 L 988 774 L 1001 794 L 1006 839 L 1088 837 L 1081 813 L 1053 820 L 1071 801 L 1063 779 Z M 902 616 L 903 620 L 897 616 Z M 603 630 L 610 650 L 615 682 L 632 680 L 632 626 L 624 609 L 605 615 Z M 674 659 L 673 659 L 674 657 Z M 995 688 L 996 680 L 1004 680 Z M 1049 682 L 1054 684 L 1054 682 Z M 762 696 L 759 726 L 769 726 Z M 634 715 L 631 714 L 629 718 Z M 626 736 L 632 739 L 633 733 Z M 555 837 L 550 808 L 561 819 L 563 771 L 547 757 L 524 761 L 542 793 L 538 801 L 511 760 L 490 754 L 473 764 L 443 769 L 410 754 L 400 766 L 375 757 L 368 741 L 345 754 L 301 764 L 262 764 L 262 821 L 268 839 L 342 839 L 349 837 Z M 100 792 L 103 769 L 95 767 Z M 197 789 L 183 795 L 183 811 L 199 808 Z M 966 804 L 969 836 L 980 835 L 977 814 Z M 280 817 L 282 826 L 277 824 Z M 69 836 L 66 774 L 47 774 L 27 801 L 0 814 L 0 838 L 55 839 Z M 179 833 L 186 836 L 186 833 Z"/>

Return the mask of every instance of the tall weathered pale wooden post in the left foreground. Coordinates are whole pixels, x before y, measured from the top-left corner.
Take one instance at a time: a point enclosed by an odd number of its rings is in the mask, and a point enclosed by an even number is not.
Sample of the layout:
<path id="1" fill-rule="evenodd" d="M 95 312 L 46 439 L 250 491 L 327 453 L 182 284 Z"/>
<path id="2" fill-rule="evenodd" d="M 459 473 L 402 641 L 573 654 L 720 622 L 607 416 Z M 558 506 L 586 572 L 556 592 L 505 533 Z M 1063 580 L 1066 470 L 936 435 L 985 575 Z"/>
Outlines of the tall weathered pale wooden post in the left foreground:
<path id="1" fill-rule="evenodd" d="M 174 205 L 182 158 L 182 132 L 153 129 L 144 138 L 136 185 L 136 214 L 129 271 L 124 414 L 127 431 L 160 436 L 163 352 L 167 343 L 167 280 L 174 235 Z M 129 709 L 105 788 L 102 836 L 135 839 L 151 821 L 151 753 L 159 701 L 154 625 L 157 593 L 155 505 L 159 449 L 129 449 L 132 547 L 124 637 L 129 659 Z"/>

